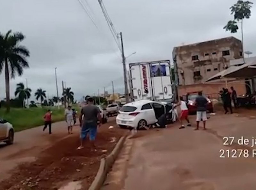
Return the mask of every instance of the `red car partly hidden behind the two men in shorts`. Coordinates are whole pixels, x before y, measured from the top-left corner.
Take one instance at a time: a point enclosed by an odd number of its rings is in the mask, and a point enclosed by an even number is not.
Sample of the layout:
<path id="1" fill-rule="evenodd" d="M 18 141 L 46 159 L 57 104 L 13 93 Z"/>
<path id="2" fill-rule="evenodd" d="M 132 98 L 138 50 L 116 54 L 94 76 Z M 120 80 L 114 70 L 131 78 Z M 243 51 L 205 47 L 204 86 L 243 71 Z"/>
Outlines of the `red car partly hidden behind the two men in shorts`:
<path id="1" fill-rule="evenodd" d="M 196 97 L 198 95 L 197 94 L 190 94 L 188 95 L 188 113 L 189 114 L 195 114 L 196 113 Z M 203 95 L 206 100 L 208 101 L 207 105 L 206 105 L 206 109 L 207 111 L 209 111 L 210 113 L 213 112 L 213 105 L 212 105 L 212 101 L 206 97 L 205 95 Z M 187 95 L 183 95 L 183 100 L 187 101 Z"/>

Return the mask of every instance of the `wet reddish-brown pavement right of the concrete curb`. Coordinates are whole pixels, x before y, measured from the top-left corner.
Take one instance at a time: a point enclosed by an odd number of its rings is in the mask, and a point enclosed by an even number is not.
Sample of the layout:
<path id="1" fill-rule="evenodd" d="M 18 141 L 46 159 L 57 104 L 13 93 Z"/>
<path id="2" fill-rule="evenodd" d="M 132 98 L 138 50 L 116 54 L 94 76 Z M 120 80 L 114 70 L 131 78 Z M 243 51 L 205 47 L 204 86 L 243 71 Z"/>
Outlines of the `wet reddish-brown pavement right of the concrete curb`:
<path id="1" fill-rule="evenodd" d="M 220 158 L 220 150 L 251 152 L 250 145 L 224 146 L 223 136 L 235 136 L 235 141 L 244 136 L 251 141 L 255 123 L 236 115 L 216 115 L 209 119 L 207 131 L 172 125 L 135 138 L 131 155 L 127 157 L 127 151 L 120 155 L 103 190 L 254 190 L 256 158 Z M 121 166 L 124 158 L 129 160 L 127 167 Z"/>

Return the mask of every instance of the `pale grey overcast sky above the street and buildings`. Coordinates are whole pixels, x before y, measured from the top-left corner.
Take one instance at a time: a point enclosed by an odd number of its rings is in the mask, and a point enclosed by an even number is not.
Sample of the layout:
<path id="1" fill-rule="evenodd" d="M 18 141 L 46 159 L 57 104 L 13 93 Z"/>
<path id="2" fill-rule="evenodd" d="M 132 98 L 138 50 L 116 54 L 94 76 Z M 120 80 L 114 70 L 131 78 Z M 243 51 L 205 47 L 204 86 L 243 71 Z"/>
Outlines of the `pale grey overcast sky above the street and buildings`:
<path id="1" fill-rule="evenodd" d="M 82 0 L 85 2 L 85 0 Z M 256 3 L 255 0 L 251 0 Z M 0 32 L 20 31 L 30 50 L 29 69 L 11 80 L 26 83 L 35 93 L 41 87 L 56 95 L 54 68 L 79 100 L 83 95 L 123 90 L 121 55 L 97 0 L 87 0 L 93 25 L 77 0 L 0 0 Z M 231 36 L 223 27 L 232 19 L 229 7 L 236 0 L 103 0 L 116 30 L 123 32 L 127 62 L 171 59 L 175 46 Z M 86 3 L 85 3 L 86 4 Z M 244 20 L 244 50 L 256 53 L 256 4 Z M 233 34 L 240 39 L 241 31 Z M 4 73 L 0 98 L 5 97 Z"/>

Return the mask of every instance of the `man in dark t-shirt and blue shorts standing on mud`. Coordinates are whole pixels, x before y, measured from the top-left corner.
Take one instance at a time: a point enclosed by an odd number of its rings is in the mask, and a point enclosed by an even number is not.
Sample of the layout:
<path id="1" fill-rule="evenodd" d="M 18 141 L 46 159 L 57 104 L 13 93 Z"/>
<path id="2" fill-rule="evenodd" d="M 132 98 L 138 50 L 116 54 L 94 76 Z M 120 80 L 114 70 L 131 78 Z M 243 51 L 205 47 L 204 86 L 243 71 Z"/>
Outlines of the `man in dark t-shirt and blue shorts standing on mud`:
<path id="1" fill-rule="evenodd" d="M 81 127 L 81 145 L 77 149 L 80 150 L 84 148 L 84 141 L 87 134 L 89 134 L 91 146 L 94 150 L 96 150 L 94 141 L 97 134 L 97 125 L 100 126 L 101 122 L 100 110 L 97 106 L 93 105 L 93 98 L 87 97 L 86 102 L 87 105 L 82 108 L 81 114 L 79 116 L 79 122 Z M 84 119 L 82 123 L 83 116 Z"/>

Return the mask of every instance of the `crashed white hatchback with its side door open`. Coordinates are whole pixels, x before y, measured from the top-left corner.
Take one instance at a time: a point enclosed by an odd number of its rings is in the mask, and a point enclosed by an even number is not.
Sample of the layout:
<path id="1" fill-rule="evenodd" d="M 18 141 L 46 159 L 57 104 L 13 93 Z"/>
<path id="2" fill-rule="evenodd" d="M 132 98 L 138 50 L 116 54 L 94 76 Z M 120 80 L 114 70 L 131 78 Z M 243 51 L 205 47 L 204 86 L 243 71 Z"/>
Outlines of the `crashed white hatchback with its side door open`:
<path id="1" fill-rule="evenodd" d="M 146 128 L 155 124 L 163 114 L 167 115 L 167 122 L 175 122 L 178 117 L 172 103 L 139 100 L 127 103 L 120 109 L 116 124 L 120 127 Z"/>

